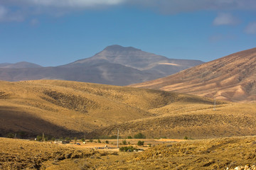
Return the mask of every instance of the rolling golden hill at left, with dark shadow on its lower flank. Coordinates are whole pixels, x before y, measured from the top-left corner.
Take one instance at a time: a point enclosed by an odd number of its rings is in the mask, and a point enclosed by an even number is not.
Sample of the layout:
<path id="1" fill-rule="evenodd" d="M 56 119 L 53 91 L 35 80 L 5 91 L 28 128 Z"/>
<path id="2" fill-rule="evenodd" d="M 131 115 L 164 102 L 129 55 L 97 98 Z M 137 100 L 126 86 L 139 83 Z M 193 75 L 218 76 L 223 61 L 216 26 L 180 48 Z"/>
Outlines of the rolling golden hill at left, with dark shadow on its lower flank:
<path id="1" fill-rule="evenodd" d="M 208 99 L 186 94 L 75 81 L 0 81 L 0 86 L 0 130 L 4 134 L 93 133 L 109 125 L 164 115 L 168 113 L 164 107 L 171 103 L 212 105 Z"/>

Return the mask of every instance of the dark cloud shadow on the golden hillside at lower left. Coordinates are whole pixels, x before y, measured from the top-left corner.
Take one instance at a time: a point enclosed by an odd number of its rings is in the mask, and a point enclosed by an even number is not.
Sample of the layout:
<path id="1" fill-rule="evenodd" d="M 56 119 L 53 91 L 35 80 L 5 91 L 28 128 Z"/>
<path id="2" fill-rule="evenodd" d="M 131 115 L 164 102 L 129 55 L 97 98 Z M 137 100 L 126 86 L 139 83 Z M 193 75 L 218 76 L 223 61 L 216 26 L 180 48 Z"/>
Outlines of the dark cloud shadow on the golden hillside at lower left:
<path id="1" fill-rule="evenodd" d="M 6 137 L 10 132 L 25 132 L 26 137 L 50 135 L 51 137 L 73 137 L 82 135 L 38 118 L 18 108 L 0 106 L 0 136 Z"/>

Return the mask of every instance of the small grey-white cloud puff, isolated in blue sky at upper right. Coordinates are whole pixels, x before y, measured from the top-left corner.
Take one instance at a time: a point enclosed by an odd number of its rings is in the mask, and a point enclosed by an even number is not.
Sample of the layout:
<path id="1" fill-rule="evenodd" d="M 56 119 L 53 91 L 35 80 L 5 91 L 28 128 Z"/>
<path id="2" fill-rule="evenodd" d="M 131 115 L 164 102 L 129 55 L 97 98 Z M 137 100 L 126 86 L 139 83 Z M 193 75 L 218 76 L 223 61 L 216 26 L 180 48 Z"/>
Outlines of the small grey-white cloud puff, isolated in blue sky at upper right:
<path id="1" fill-rule="evenodd" d="M 214 26 L 235 25 L 237 23 L 238 19 L 232 16 L 230 13 L 219 13 L 213 21 Z"/>

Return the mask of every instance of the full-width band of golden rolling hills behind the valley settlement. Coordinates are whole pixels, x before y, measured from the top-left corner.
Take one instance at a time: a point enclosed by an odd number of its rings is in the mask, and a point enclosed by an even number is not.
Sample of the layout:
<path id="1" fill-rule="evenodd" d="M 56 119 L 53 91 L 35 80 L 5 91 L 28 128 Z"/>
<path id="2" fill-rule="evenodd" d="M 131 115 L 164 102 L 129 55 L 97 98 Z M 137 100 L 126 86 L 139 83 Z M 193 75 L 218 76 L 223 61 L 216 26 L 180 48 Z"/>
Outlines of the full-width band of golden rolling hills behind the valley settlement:
<path id="1" fill-rule="evenodd" d="M 0 81 L 0 134 L 87 138 L 255 135 L 253 103 L 75 81 Z M 24 136 L 24 135 L 23 135 Z"/>

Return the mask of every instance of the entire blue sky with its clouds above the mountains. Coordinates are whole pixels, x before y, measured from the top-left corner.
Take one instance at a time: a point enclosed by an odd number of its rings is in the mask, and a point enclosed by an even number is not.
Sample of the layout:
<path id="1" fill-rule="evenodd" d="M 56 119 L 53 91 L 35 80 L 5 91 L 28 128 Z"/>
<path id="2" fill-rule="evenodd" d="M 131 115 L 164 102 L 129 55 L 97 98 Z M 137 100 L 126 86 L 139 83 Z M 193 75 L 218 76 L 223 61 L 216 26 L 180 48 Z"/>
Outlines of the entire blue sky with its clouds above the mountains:
<path id="1" fill-rule="evenodd" d="M 215 60 L 256 47 L 256 1 L 0 0 L 0 63 L 57 66 L 108 45 Z"/>

